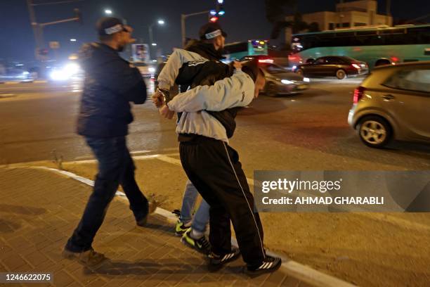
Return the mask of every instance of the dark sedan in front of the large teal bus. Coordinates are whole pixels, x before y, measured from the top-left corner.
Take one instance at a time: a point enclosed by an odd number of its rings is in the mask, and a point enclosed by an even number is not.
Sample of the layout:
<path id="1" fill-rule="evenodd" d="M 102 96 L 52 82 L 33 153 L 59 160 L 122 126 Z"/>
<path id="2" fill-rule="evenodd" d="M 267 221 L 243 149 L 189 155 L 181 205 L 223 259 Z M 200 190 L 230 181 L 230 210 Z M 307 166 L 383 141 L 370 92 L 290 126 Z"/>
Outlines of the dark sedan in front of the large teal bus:
<path id="1" fill-rule="evenodd" d="M 334 76 L 338 79 L 345 79 L 365 75 L 369 72 L 369 67 L 364 62 L 346 56 L 326 56 L 298 65 L 293 71 L 305 77 Z"/>

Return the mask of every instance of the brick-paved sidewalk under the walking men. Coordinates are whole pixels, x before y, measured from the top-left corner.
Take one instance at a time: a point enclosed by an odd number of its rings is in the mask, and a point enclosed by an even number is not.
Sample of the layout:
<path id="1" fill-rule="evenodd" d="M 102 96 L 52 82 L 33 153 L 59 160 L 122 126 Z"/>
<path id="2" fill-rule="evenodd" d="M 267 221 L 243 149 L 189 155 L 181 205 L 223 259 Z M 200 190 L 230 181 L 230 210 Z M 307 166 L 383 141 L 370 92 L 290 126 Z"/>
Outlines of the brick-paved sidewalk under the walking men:
<path id="1" fill-rule="evenodd" d="M 91 186 L 47 170 L 0 168 L 0 272 L 51 272 L 53 286 L 310 286 L 282 269 L 249 278 L 242 260 L 209 273 L 163 217 L 136 227 L 118 199 L 93 244 L 110 260 L 98 269 L 65 260 L 61 251 L 90 193 Z"/>

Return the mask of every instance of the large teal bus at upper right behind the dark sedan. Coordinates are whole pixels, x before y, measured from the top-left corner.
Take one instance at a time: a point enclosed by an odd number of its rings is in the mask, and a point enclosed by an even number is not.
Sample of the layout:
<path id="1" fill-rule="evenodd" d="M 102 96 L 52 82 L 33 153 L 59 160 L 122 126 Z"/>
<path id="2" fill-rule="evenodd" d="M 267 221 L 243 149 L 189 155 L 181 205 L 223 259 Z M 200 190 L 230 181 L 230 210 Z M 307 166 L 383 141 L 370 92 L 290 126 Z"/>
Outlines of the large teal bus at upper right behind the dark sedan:
<path id="1" fill-rule="evenodd" d="M 430 25 L 367 27 L 292 35 L 293 68 L 322 56 L 348 56 L 372 69 L 379 65 L 430 60 Z"/>

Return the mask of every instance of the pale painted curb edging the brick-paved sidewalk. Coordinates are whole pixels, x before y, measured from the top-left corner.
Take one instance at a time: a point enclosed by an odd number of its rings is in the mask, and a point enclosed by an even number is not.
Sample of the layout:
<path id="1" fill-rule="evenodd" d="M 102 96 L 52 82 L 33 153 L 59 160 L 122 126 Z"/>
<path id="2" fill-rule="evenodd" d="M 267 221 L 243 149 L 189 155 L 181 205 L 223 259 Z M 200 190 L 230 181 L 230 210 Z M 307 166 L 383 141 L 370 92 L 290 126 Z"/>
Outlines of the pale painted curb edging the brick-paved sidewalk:
<path id="1" fill-rule="evenodd" d="M 76 181 L 82 182 L 84 184 L 87 184 L 89 186 L 94 186 L 94 181 L 91 179 L 87 179 L 85 177 L 81 177 L 77 174 L 74 174 L 72 172 L 67 172 L 65 170 L 58 170 L 51 167 L 30 167 L 30 166 L 21 166 L 22 168 L 29 168 L 34 170 L 47 170 L 49 172 L 55 172 L 56 174 L 63 175 L 64 177 L 74 179 Z M 115 194 L 120 198 L 121 200 L 128 200 L 126 199 L 125 193 L 122 191 L 117 191 Z M 176 215 L 173 215 L 169 210 L 164 210 L 162 208 L 158 208 L 154 212 L 155 214 L 164 217 L 164 219 L 169 223 L 176 223 L 178 218 Z M 232 238 L 232 244 L 237 247 L 237 241 L 235 238 Z M 348 283 L 346 281 L 343 281 L 341 279 L 338 279 L 334 276 L 327 275 L 323 272 L 319 272 L 318 270 L 312 269 L 311 267 L 308 267 L 304 264 L 300 264 L 299 262 L 295 262 L 293 260 L 289 260 L 286 257 L 280 256 L 276 253 L 271 252 L 270 250 L 267 251 L 268 255 L 280 257 L 282 259 L 282 266 L 281 269 L 285 272 L 285 274 L 289 276 L 294 276 L 294 278 L 299 279 L 301 281 L 304 281 L 308 284 L 311 284 L 313 286 L 327 286 L 327 287 L 354 287 L 356 285 L 353 285 L 351 283 Z"/>

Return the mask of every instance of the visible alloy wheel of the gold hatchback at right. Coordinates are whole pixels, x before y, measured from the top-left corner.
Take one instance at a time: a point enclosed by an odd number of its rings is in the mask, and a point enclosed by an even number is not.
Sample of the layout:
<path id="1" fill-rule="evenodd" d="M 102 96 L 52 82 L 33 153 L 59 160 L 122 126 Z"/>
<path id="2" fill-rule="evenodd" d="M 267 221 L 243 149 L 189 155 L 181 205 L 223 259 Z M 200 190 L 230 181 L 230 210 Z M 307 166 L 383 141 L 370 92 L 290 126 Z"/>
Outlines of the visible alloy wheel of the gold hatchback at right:
<path id="1" fill-rule="evenodd" d="M 391 141 L 391 125 L 383 117 L 369 115 L 358 122 L 358 136 L 366 146 L 383 148 Z"/>

